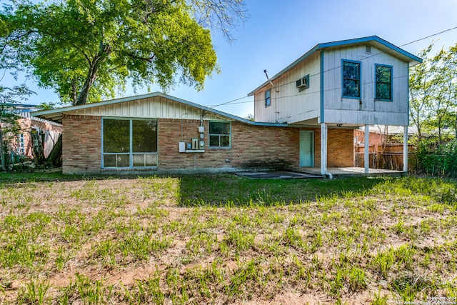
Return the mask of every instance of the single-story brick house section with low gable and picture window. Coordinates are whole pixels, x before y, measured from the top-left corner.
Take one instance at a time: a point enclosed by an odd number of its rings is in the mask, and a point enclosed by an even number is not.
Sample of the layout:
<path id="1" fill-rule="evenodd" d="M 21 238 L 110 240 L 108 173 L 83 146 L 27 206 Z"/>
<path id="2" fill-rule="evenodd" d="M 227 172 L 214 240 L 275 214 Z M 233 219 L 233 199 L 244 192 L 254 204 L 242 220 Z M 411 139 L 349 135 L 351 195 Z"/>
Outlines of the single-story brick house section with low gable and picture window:
<path id="1" fill-rule="evenodd" d="M 64 174 L 241 171 L 282 162 L 300 168 L 302 146 L 321 129 L 255 122 L 174 96 L 151 93 L 37 111 L 63 124 Z M 328 166 L 353 166 L 353 129 L 330 129 Z M 311 160 L 320 166 L 319 149 Z"/>

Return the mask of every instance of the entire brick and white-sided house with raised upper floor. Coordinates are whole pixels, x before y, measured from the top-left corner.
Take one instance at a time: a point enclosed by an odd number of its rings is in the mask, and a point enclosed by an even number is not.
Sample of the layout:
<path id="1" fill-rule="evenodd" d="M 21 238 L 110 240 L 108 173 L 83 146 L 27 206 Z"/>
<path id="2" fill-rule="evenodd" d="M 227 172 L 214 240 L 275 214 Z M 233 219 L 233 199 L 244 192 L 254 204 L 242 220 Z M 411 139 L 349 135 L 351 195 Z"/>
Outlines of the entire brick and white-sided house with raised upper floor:
<path id="1" fill-rule="evenodd" d="M 34 115 L 63 124 L 66 174 L 238 171 L 280 160 L 326 174 L 353 166 L 359 126 L 406 129 L 408 67 L 419 62 L 376 36 L 318 44 L 249 94 L 255 121 L 161 93 Z"/>

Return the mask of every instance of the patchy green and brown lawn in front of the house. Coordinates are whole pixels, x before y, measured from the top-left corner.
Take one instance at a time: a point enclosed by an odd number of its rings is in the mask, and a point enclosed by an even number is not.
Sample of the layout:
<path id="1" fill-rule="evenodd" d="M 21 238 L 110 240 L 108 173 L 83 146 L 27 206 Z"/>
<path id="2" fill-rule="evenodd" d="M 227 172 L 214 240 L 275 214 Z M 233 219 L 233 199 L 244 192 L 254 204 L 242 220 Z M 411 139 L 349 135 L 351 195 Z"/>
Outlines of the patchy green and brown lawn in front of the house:
<path id="1" fill-rule="evenodd" d="M 1 304 L 457 304 L 453 180 L 0 184 Z"/>

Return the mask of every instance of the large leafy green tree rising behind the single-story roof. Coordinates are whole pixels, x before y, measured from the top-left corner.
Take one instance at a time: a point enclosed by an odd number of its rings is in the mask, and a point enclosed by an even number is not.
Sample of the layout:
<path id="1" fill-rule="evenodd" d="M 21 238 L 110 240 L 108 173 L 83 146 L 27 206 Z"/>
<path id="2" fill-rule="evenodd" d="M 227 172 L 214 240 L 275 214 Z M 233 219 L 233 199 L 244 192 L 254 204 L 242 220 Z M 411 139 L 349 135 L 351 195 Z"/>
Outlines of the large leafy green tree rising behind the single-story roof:
<path id="1" fill-rule="evenodd" d="M 244 16 L 243 0 L 11 0 L 0 11 L 0 60 L 74 105 L 114 97 L 127 81 L 203 89 L 218 71 L 209 27 L 231 39 Z"/>

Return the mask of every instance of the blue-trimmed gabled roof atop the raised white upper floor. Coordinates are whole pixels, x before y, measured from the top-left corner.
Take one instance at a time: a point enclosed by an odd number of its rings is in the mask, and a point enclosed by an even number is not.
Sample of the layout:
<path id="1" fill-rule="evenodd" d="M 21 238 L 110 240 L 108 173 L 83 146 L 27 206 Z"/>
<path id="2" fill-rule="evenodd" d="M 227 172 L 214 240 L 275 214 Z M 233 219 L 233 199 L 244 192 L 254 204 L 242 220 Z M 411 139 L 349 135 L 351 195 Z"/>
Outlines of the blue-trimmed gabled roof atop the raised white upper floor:
<path id="1" fill-rule="evenodd" d="M 420 59 L 418 56 L 413 55 L 403 49 L 398 48 L 398 46 L 394 46 L 388 41 L 385 41 L 384 39 L 379 38 L 378 36 L 367 36 L 367 37 L 361 37 L 361 38 L 356 38 L 356 39 L 347 39 L 347 40 L 341 40 L 341 41 L 333 41 L 333 42 L 325 42 L 323 44 L 317 44 L 316 46 L 313 47 L 313 49 L 307 51 L 305 54 L 303 54 L 300 58 L 298 58 L 296 61 L 293 61 L 292 64 L 289 64 L 281 70 L 278 74 L 274 75 L 269 79 L 269 81 L 273 81 L 275 79 L 278 79 L 279 76 L 285 74 L 287 71 L 293 69 L 296 65 L 300 64 L 301 61 L 307 59 L 309 56 L 315 54 L 318 51 L 321 51 L 323 49 L 334 49 L 334 48 L 340 48 L 341 46 L 350 46 L 354 44 L 366 44 L 370 43 L 373 46 L 376 46 L 378 49 L 381 49 L 385 51 L 388 54 L 391 54 L 393 56 L 396 56 L 403 61 L 406 61 L 410 64 L 410 66 L 415 66 L 416 64 L 420 64 L 422 62 L 422 59 Z M 252 96 L 254 92 L 258 91 L 258 89 L 263 88 L 263 86 L 266 86 L 269 84 L 269 81 L 265 81 L 261 86 L 258 86 L 256 89 L 251 91 L 251 93 L 248 94 L 248 96 Z"/>

